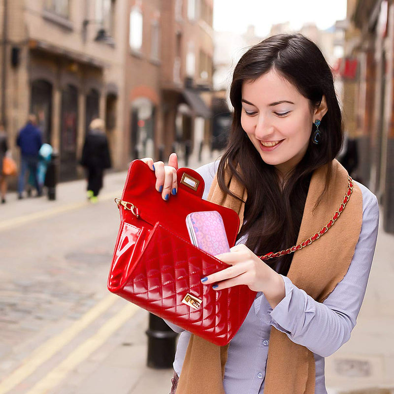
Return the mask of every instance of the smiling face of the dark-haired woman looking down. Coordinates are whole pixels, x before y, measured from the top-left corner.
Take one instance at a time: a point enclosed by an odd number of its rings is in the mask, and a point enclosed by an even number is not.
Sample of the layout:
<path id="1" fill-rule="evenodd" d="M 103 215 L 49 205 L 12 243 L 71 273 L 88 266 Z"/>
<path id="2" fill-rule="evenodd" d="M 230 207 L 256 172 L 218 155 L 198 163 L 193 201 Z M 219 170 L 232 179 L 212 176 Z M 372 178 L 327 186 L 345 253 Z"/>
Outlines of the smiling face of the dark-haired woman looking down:
<path id="1" fill-rule="evenodd" d="M 275 70 L 242 85 L 242 128 L 263 161 L 283 175 L 305 155 L 315 112 Z"/>

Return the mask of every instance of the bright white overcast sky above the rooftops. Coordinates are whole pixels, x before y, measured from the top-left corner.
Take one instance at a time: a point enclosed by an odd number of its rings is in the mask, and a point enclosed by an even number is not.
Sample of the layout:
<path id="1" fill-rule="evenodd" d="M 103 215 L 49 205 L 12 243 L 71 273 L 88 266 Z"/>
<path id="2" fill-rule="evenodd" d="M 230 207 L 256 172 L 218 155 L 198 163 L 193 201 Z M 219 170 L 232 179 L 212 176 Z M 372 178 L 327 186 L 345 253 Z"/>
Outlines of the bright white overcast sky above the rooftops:
<path id="1" fill-rule="evenodd" d="M 325 30 L 336 20 L 346 19 L 346 0 L 214 0 L 213 28 L 216 31 L 245 33 L 255 25 L 256 34 L 265 36 L 272 24 L 290 22 L 298 30 L 314 22 Z"/>

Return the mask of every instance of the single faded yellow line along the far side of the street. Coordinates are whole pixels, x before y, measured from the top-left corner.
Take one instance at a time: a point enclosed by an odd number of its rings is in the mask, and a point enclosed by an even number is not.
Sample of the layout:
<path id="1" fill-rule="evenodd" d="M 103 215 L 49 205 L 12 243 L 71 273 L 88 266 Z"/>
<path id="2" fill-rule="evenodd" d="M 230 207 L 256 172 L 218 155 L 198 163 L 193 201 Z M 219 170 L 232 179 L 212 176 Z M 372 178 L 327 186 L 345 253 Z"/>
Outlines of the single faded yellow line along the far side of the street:
<path id="1" fill-rule="evenodd" d="M 122 194 L 121 190 L 117 191 L 117 192 L 113 192 L 113 193 L 107 193 L 105 195 L 100 196 L 99 201 L 110 200 L 112 198 L 120 196 L 121 194 Z M 0 231 L 5 230 L 5 229 L 10 229 L 13 227 L 17 227 L 22 224 L 33 222 L 36 220 L 41 220 L 44 218 L 55 216 L 60 213 L 73 211 L 75 209 L 79 209 L 79 208 L 85 207 L 90 204 L 91 203 L 89 201 L 80 201 L 80 202 L 76 202 L 76 203 L 72 203 L 72 204 L 62 205 L 62 206 L 52 208 L 52 209 L 47 209 L 47 210 L 41 211 L 41 212 L 34 212 L 34 213 L 30 213 L 30 214 L 23 215 L 23 216 L 18 216 L 16 218 L 7 219 L 7 220 L 0 222 Z"/>

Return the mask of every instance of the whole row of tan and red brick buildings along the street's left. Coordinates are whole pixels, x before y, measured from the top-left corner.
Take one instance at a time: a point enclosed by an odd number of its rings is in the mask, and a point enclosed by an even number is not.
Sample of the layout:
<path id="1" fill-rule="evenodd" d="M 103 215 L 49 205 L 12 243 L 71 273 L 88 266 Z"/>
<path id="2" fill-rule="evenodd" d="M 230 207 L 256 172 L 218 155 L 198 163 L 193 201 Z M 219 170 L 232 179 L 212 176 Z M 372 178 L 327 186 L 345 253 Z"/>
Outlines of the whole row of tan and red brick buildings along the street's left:
<path id="1" fill-rule="evenodd" d="M 0 0 L 0 12 L 1 120 L 15 157 L 32 112 L 61 180 L 82 176 L 98 116 L 115 169 L 209 140 L 213 0 Z"/>

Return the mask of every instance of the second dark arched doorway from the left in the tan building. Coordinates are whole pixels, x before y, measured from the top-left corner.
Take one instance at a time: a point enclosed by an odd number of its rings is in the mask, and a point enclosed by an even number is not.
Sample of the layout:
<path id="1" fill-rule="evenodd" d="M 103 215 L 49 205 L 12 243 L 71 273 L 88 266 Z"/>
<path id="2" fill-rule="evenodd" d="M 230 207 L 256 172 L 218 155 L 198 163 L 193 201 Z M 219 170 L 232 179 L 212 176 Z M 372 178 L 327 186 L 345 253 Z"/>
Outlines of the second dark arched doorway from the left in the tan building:
<path id="1" fill-rule="evenodd" d="M 66 85 L 62 92 L 62 115 L 60 126 L 60 179 L 75 179 L 77 175 L 77 125 L 78 90 Z"/>

